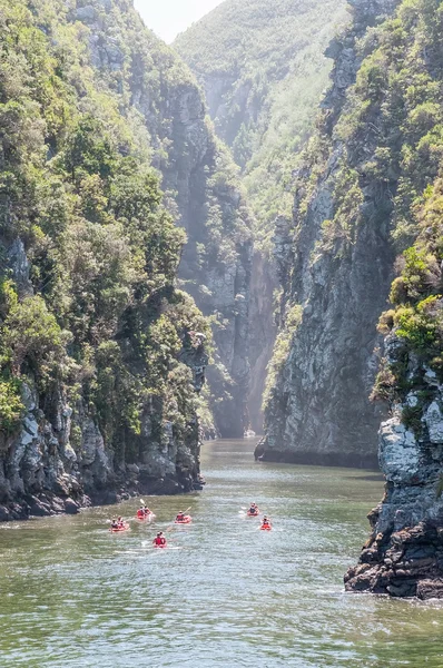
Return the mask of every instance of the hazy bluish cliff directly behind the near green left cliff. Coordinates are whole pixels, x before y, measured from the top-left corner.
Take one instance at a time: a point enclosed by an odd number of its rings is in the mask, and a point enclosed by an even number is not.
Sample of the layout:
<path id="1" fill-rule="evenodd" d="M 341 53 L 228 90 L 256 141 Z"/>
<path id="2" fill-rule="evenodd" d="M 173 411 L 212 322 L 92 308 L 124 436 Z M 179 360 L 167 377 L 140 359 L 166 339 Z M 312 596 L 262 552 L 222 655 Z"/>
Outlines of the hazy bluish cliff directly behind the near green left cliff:
<path id="1" fill-rule="evenodd" d="M 187 233 L 179 278 L 211 316 L 215 365 L 210 405 L 224 436 L 243 435 L 249 384 L 248 310 L 252 216 L 237 170 L 205 118 L 195 79 L 174 52 L 147 31 L 130 3 L 78 3 L 71 20 L 88 27 L 92 63 L 141 114 L 166 204 Z M 132 111 L 130 111 L 132 110 Z"/>

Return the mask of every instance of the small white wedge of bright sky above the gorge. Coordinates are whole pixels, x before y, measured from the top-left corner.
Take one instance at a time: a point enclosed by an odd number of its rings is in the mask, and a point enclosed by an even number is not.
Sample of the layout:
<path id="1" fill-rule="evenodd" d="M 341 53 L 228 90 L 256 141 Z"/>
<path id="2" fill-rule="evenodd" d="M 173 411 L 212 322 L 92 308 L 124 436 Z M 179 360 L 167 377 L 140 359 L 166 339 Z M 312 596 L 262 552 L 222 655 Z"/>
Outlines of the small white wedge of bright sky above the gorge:
<path id="1" fill-rule="evenodd" d="M 223 0 L 135 0 L 148 28 L 166 42 L 220 4 Z"/>

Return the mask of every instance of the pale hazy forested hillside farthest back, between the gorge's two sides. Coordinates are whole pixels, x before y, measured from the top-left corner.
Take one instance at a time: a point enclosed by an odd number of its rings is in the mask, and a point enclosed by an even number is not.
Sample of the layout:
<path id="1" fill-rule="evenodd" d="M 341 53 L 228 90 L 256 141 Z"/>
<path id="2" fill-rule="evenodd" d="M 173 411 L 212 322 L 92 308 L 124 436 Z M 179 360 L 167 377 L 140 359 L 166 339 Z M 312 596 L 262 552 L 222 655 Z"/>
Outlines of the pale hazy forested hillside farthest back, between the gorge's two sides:
<path id="1" fill-rule="evenodd" d="M 294 170 L 331 69 L 323 51 L 347 18 L 344 0 L 227 0 L 174 42 L 205 89 L 256 217 L 249 325 L 256 430 L 276 333 L 274 223 L 292 215 Z"/>

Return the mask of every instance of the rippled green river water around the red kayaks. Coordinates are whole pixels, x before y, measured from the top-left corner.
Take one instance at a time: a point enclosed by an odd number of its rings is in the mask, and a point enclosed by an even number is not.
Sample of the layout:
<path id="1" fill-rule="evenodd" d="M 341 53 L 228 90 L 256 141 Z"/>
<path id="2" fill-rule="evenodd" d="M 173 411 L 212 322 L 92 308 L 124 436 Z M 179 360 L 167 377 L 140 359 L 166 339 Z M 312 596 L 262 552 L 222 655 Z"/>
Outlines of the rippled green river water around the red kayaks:
<path id="1" fill-rule="evenodd" d="M 377 477 L 256 464 L 253 448 L 205 444 L 206 490 L 149 498 L 156 525 L 111 534 L 114 508 L 0 525 L 0 667 L 442 668 L 443 605 L 343 591 Z M 249 501 L 274 531 L 239 513 Z M 154 550 L 187 505 L 194 524 Z"/>

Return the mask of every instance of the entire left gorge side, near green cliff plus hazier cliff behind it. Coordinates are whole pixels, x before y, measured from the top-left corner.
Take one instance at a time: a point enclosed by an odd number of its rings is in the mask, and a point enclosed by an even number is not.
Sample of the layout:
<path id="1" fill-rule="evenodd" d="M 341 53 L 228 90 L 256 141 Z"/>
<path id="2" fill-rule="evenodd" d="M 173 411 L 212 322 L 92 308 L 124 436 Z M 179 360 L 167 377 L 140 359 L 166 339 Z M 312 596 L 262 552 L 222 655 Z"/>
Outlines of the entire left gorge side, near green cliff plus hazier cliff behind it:
<path id="1" fill-rule="evenodd" d="M 235 170 L 129 2 L 1 2 L 0 24 L 0 519 L 188 490 L 210 324 L 219 411 L 243 429 Z"/>

